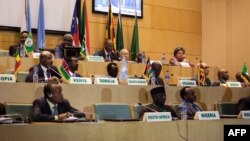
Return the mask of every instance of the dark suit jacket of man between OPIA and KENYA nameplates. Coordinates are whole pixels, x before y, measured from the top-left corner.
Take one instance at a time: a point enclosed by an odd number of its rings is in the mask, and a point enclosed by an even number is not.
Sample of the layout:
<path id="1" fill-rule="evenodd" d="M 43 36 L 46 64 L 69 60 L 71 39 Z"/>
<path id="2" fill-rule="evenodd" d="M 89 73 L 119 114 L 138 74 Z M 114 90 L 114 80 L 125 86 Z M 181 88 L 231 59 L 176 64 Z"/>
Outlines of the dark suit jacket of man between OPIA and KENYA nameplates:
<path id="1" fill-rule="evenodd" d="M 33 66 L 33 67 L 31 67 L 29 69 L 29 74 L 27 75 L 27 77 L 25 79 L 25 82 L 33 82 L 33 73 L 34 73 L 33 70 L 34 70 L 34 67 L 38 67 L 38 79 L 39 79 L 38 82 L 45 82 L 45 79 L 44 79 L 45 77 L 44 77 L 44 74 L 43 74 L 43 69 L 42 69 L 42 67 L 41 67 L 40 64 L 35 65 L 35 66 Z M 58 71 L 58 69 L 55 66 L 51 66 L 51 68 L 54 71 L 56 71 L 58 74 L 60 74 L 59 71 Z M 55 76 L 58 79 L 61 79 L 61 76 L 58 75 L 58 74 L 56 74 L 54 71 L 50 71 L 51 77 Z"/>

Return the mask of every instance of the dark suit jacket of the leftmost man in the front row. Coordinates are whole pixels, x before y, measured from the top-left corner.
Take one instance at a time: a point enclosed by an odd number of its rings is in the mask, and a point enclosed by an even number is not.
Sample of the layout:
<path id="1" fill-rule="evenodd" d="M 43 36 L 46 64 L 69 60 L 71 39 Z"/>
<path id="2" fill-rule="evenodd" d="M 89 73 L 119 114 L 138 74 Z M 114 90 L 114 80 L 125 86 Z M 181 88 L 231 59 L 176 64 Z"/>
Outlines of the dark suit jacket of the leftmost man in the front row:
<path id="1" fill-rule="evenodd" d="M 75 108 L 71 107 L 69 101 L 64 99 L 62 103 L 58 103 L 58 115 L 66 112 L 72 113 L 75 117 L 85 117 L 84 113 L 79 112 Z M 49 104 L 46 98 L 42 97 L 33 101 L 32 111 L 33 121 L 54 121 L 55 118 L 52 116 Z"/>

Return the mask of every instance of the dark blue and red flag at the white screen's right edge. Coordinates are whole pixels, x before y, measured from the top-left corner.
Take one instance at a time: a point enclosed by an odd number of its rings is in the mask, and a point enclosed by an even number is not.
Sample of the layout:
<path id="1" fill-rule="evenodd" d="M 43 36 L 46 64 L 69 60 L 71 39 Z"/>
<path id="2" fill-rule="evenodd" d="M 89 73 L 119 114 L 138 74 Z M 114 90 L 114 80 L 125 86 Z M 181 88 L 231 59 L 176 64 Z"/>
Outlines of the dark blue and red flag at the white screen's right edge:
<path id="1" fill-rule="evenodd" d="M 79 30 L 79 19 L 77 14 L 77 1 L 75 4 L 75 9 L 72 17 L 72 23 L 71 23 L 71 35 L 73 36 L 73 44 L 77 47 L 81 46 L 80 43 L 80 30 Z"/>

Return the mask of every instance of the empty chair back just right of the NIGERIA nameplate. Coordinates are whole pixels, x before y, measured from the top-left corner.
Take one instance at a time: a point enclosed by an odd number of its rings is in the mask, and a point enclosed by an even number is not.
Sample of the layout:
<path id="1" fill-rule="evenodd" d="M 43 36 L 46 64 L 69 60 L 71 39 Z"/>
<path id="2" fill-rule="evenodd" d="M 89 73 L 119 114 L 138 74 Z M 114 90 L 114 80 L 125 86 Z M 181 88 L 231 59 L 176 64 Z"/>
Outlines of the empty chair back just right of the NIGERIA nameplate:
<path id="1" fill-rule="evenodd" d="M 220 116 L 233 116 L 237 108 L 236 102 L 217 102 L 216 110 L 219 112 Z"/>

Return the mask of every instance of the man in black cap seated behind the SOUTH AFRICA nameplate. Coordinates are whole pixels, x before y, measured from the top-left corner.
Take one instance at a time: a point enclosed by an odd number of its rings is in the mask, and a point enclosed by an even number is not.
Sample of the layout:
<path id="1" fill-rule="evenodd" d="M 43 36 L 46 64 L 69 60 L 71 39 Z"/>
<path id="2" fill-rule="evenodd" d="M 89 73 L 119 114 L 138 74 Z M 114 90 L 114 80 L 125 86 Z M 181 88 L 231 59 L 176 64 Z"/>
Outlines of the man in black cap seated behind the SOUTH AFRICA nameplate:
<path id="1" fill-rule="evenodd" d="M 171 106 L 165 105 L 166 92 L 163 86 L 155 87 L 151 91 L 153 103 L 143 106 L 139 118 L 142 119 L 145 112 L 171 112 L 172 117 L 177 117 Z"/>

